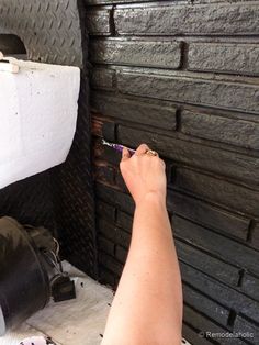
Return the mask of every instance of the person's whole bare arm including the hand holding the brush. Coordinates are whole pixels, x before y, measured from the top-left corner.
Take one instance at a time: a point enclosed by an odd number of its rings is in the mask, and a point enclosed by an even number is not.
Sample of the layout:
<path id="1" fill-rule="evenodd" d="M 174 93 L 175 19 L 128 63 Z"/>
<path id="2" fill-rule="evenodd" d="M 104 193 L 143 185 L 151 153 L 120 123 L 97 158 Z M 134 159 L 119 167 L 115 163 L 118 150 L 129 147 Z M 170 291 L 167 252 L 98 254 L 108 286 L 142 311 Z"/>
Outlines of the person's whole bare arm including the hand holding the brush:
<path id="1" fill-rule="evenodd" d="M 179 345 L 182 288 L 166 209 L 165 164 L 140 145 L 121 170 L 135 203 L 132 243 L 102 345 Z"/>

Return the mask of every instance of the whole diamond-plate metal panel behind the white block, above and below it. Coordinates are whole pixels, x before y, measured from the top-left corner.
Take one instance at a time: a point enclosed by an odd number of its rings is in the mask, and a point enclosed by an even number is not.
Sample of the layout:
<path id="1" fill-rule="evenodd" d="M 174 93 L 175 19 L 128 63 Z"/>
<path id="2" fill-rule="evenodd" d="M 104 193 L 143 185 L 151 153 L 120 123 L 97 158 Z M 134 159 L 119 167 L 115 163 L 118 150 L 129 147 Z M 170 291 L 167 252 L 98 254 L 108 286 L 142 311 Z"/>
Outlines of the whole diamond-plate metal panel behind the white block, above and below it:
<path id="1" fill-rule="evenodd" d="M 69 157 L 59 167 L 1 190 L 0 214 L 49 227 L 58 234 L 64 256 L 95 277 L 83 5 L 76 0 L 0 0 L 0 34 L 18 35 L 29 59 L 81 68 L 78 124 Z"/>

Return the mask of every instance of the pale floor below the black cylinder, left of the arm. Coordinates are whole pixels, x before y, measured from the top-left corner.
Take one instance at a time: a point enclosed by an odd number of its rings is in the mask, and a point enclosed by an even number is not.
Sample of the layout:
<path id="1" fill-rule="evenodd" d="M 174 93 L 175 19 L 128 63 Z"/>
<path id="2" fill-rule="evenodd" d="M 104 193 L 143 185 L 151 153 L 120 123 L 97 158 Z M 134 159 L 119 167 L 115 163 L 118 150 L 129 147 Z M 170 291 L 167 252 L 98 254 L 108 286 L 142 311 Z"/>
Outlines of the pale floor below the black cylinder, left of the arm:
<path id="1" fill-rule="evenodd" d="M 77 299 L 50 302 L 18 330 L 0 337 L 0 345 L 18 345 L 35 335 L 50 336 L 57 345 L 100 345 L 113 292 L 70 264 L 65 263 L 64 269 L 76 282 Z"/>

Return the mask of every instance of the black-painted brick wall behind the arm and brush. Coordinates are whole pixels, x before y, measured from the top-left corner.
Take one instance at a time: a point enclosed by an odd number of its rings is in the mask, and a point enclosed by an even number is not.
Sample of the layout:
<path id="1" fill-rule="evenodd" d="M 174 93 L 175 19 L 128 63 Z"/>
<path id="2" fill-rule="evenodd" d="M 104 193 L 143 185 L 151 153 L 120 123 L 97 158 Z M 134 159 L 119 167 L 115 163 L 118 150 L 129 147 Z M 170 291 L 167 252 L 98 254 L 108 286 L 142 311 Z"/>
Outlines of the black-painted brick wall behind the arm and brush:
<path id="1" fill-rule="evenodd" d="M 101 280 L 116 286 L 134 204 L 120 156 L 145 142 L 167 163 L 194 345 L 259 343 L 259 2 L 86 0 Z M 200 332 L 252 332 L 202 338 Z"/>

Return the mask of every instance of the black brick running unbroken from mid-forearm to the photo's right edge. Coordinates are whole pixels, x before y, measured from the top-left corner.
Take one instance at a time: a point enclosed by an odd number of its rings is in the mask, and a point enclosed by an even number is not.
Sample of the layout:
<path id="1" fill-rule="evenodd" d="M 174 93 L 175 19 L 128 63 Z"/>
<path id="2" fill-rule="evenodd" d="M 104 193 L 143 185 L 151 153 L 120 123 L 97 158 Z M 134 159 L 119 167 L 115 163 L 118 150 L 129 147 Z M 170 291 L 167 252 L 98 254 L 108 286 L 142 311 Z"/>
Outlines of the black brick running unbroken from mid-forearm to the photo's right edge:
<path id="1" fill-rule="evenodd" d="M 229 264 L 259 274 L 259 252 L 179 216 L 172 218 L 172 226 L 176 236 L 181 240 L 188 240 L 193 245 L 206 251 L 209 254 L 216 255 Z"/>

